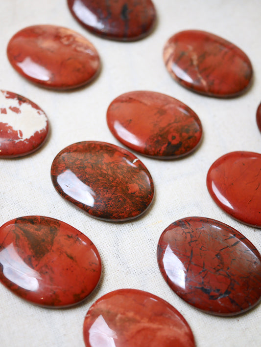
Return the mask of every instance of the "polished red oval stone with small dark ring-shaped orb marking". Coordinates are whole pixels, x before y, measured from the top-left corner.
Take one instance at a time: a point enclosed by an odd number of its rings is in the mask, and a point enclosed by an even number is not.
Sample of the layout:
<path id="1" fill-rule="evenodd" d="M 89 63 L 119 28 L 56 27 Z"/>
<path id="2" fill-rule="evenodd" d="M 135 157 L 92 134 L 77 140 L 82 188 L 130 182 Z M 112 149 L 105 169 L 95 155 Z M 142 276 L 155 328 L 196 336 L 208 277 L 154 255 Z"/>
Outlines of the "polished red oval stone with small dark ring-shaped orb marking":
<path id="1" fill-rule="evenodd" d="M 194 151 L 202 136 L 201 122 L 191 108 L 153 91 L 120 95 L 107 110 L 107 124 L 123 145 L 160 159 Z"/>

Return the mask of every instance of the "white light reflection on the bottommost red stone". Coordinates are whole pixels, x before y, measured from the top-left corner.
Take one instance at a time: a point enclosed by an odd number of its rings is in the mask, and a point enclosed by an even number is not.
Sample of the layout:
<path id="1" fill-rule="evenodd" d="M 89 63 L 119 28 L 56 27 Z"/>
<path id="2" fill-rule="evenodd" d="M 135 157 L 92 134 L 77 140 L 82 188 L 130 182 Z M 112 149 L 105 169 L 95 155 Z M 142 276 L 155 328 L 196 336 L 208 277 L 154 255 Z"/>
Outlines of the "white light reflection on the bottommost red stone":
<path id="1" fill-rule="evenodd" d="M 110 329 L 102 315 L 96 318 L 89 330 L 89 342 L 92 347 L 116 347 L 117 334 Z"/>

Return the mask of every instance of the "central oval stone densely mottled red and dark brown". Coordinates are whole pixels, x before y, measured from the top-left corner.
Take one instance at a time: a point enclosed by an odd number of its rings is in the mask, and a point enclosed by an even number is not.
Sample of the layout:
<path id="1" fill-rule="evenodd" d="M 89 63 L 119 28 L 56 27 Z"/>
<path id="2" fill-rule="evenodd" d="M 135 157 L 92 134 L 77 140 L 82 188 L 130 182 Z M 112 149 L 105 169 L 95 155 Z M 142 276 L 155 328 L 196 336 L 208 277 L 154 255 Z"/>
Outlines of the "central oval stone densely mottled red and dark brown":
<path id="1" fill-rule="evenodd" d="M 51 177 L 62 197 L 99 219 L 139 217 L 154 195 L 151 175 L 142 162 L 105 142 L 83 141 L 66 147 L 53 160 Z"/>

